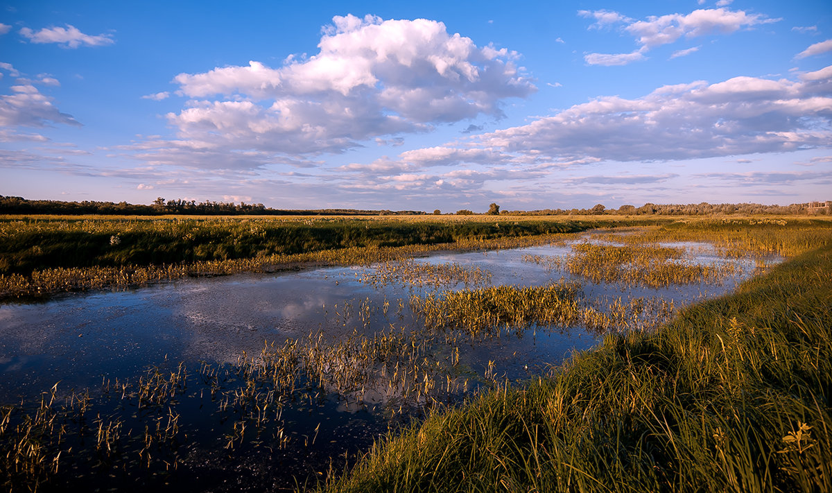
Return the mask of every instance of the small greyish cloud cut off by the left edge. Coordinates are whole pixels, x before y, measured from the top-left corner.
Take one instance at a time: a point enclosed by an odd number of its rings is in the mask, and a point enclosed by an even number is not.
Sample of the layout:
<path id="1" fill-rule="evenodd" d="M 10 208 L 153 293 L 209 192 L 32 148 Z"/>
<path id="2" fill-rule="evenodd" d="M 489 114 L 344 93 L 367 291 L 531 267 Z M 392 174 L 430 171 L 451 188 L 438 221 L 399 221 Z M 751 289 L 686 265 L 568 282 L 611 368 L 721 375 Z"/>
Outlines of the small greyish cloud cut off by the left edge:
<path id="1" fill-rule="evenodd" d="M 52 97 L 42 94 L 32 82 L 18 82 L 11 87 L 12 94 L 0 96 L 0 127 L 46 127 L 49 123 L 81 126 L 72 115 L 58 111 Z"/>

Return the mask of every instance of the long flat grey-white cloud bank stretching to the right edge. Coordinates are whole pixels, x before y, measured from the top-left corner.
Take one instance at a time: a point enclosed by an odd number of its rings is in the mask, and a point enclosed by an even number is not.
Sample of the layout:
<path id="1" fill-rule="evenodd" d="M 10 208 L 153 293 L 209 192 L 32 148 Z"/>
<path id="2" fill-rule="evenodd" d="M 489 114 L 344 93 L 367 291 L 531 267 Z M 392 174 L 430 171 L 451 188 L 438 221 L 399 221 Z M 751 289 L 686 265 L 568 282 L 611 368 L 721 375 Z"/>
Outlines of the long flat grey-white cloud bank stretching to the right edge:
<path id="1" fill-rule="evenodd" d="M 403 152 L 436 165 L 545 169 L 571 162 L 651 162 L 832 147 L 832 66 L 800 80 L 734 77 L 597 97 L 521 127 Z"/>

